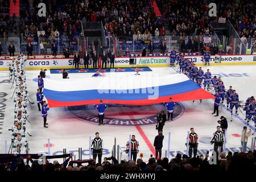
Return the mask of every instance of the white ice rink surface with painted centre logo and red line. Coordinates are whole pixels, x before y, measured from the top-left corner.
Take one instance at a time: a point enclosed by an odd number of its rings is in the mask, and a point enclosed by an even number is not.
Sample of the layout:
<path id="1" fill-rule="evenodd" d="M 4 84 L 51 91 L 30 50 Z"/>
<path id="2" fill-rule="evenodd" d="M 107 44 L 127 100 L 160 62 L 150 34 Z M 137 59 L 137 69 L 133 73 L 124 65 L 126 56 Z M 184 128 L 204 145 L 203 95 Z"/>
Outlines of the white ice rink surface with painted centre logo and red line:
<path id="1" fill-rule="evenodd" d="M 222 77 L 225 88 L 230 85 L 237 90 L 240 101 L 245 101 L 247 97 L 255 96 L 255 78 L 256 67 L 254 65 L 220 65 L 203 67 L 204 72 L 210 69 L 212 76 Z M 141 72 L 141 75 L 168 75 L 179 74 L 172 68 L 151 68 L 152 72 Z M 155 129 L 156 112 L 163 109 L 163 105 L 152 106 L 123 106 L 109 105 L 106 110 L 105 118 L 107 123 L 105 126 L 97 125 L 97 113 L 93 109 L 93 105 L 89 106 L 73 106 L 73 107 L 56 107 L 50 108 L 48 112 L 47 122 L 49 127 L 43 127 L 43 118 L 36 105 L 36 89 L 37 76 L 39 71 L 26 71 L 27 90 L 30 97 L 33 98 L 35 104 L 27 105 L 29 114 L 28 119 L 31 123 L 27 123 L 27 132 L 32 135 L 26 135 L 30 154 L 46 153 L 51 155 L 63 154 L 63 148 L 67 152 L 72 152 L 78 158 L 78 148 L 82 148 L 82 158 L 89 158 L 89 137 L 94 138 L 94 134 L 98 131 L 100 137 L 104 140 L 104 156 L 112 155 L 114 138 L 122 150 L 125 150 L 125 144 L 129 140 L 129 135 L 134 134 L 139 142 L 139 153 L 144 154 L 144 158 L 148 158 L 150 154 L 154 154 L 153 142 L 158 134 Z M 133 72 L 122 73 L 104 73 L 105 76 L 130 76 Z M 78 79 L 81 77 L 91 77 L 92 73 L 70 73 L 70 79 Z M 62 79 L 62 74 L 50 74 L 47 71 L 46 79 Z M 13 95 L 14 88 L 9 84 L 9 72 L 0 72 L 0 153 L 5 153 L 5 148 L 9 150 L 11 144 L 11 126 L 14 122 L 14 102 L 10 97 Z M 226 101 L 224 101 L 226 105 Z M 241 147 L 241 131 L 245 126 L 243 119 L 245 111 L 238 110 L 239 115 L 233 115 L 233 122 L 230 122 L 231 115 L 225 107 L 219 108 L 219 117 L 214 117 L 213 100 L 188 101 L 181 102 L 176 107 L 175 119 L 172 122 L 166 122 L 163 129 L 164 143 L 163 155 L 166 155 L 168 148 L 168 140 L 170 139 L 170 156 L 174 157 L 177 152 L 185 153 L 185 140 L 187 132 L 191 127 L 199 135 L 199 154 L 206 154 L 207 150 L 212 150 L 209 140 L 212 137 L 217 120 L 221 115 L 228 119 L 228 131 L 226 137 L 226 151 L 238 151 Z M 111 121 L 111 122 L 110 122 Z M 137 124 L 137 125 L 133 125 Z M 250 122 L 249 127 L 254 131 L 254 123 Z M 169 138 L 170 133 L 170 138 Z M 255 135 L 255 134 L 254 134 Z M 247 147 L 250 147 L 251 138 Z M 49 140 L 48 140 L 49 139 Z M 7 141 L 7 143 L 5 142 Z M 48 151 L 48 142 L 51 144 Z M 127 159 L 127 154 L 122 152 L 122 159 Z"/>

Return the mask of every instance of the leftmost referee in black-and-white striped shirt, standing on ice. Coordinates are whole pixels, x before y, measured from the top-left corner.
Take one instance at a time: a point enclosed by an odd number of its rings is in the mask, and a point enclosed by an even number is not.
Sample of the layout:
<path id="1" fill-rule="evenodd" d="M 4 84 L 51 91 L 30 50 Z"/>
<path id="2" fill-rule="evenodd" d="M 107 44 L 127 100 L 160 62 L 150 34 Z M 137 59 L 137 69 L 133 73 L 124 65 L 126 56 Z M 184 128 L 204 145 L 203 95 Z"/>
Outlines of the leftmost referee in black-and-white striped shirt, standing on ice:
<path id="1" fill-rule="evenodd" d="M 96 158 L 98 156 L 98 163 L 101 163 L 101 157 L 102 157 L 102 150 L 103 150 L 103 145 L 102 145 L 102 139 L 100 138 L 100 133 L 95 134 L 96 137 L 92 140 L 92 148 L 93 150 L 93 159 L 96 162 Z"/>

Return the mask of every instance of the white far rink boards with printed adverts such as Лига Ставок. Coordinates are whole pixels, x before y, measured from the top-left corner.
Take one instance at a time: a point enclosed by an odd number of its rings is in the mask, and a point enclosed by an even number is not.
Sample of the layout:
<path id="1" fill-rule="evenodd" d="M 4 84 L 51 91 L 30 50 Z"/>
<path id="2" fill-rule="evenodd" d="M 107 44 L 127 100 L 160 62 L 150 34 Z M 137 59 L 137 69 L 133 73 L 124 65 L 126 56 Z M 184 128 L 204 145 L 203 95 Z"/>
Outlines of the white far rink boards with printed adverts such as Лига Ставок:
<path id="1" fill-rule="evenodd" d="M 185 56 L 195 64 L 204 64 L 203 56 Z M 10 60 L 0 60 L 0 71 L 8 70 Z M 210 56 L 210 64 L 256 64 L 256 55 L 214 55 Z M 110 65 L 108 61 L 108 66 Z M 170 65 L 169 56 L 159 57 L 116 57 L 115 67 L 168 67 Z M 75 63 L 71 58 L 63 59 L 28 59 L 26 61 L 27 69 L 40 68 L 75 68 Z M 80 60 L 80 67 L 84 67 L 84 61 Z M 89 67 L 92 67 L 92 60 L 89 60 Z"/>

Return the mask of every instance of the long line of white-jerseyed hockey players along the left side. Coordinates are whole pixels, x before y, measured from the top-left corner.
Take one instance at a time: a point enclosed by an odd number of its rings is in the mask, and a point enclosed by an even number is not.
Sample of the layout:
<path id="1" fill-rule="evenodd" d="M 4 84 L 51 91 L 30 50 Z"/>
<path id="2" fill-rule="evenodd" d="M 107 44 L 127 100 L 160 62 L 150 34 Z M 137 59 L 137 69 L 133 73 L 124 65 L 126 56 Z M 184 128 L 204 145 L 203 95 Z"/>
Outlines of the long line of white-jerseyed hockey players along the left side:
<path id="1" fill-rule="evenodd" d="M 25 61 L 23 53 L 16 59 L 13 57 L 9 64 L 10 80 L 13 81 L 11 88 L 14 89 L 14 125 L 11 128 L 11 153 L 24 154 L 28 151 L 26 139 L 26 123 L 28 119 L 27 102 L 28 93 L 25 76 Z"/>

